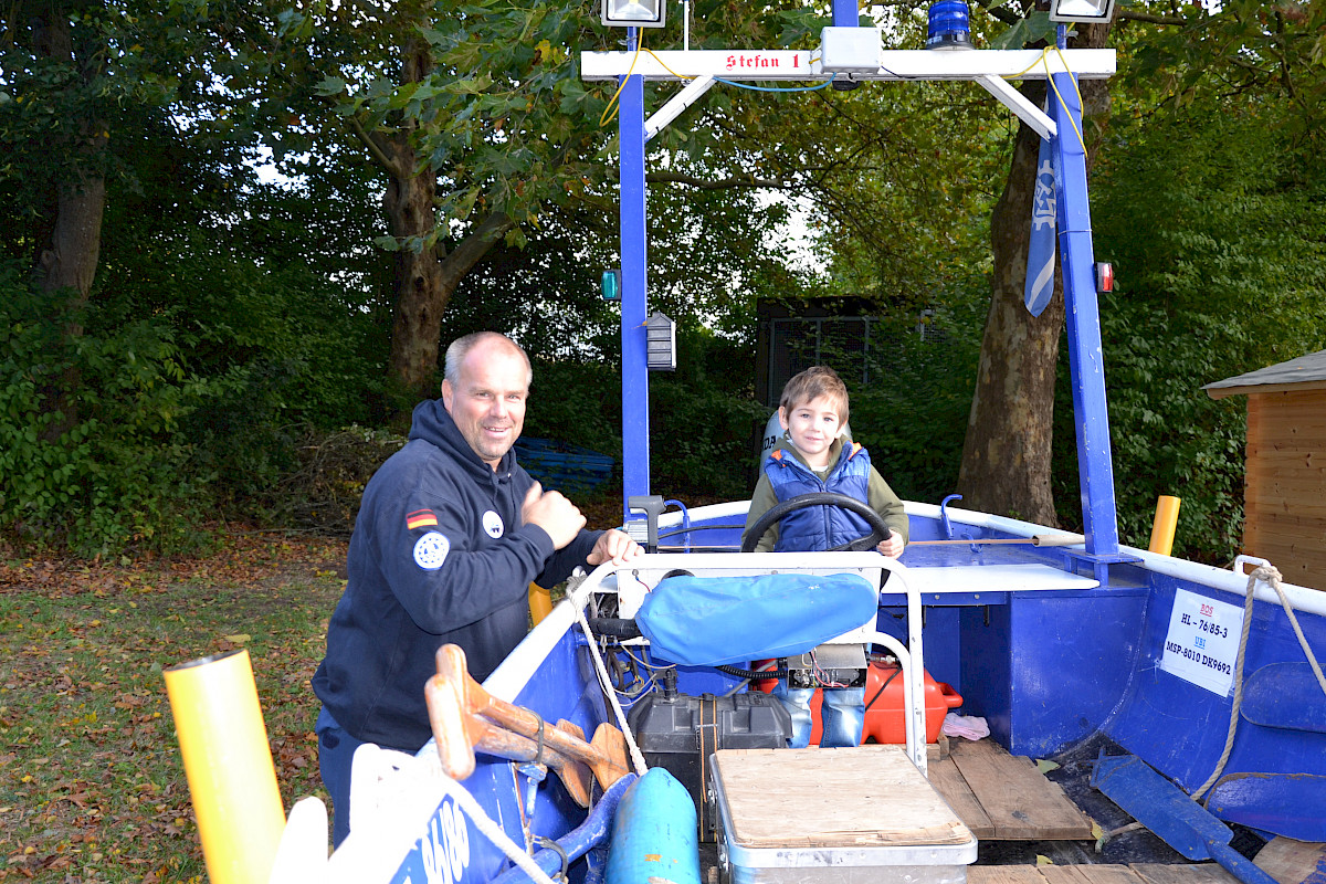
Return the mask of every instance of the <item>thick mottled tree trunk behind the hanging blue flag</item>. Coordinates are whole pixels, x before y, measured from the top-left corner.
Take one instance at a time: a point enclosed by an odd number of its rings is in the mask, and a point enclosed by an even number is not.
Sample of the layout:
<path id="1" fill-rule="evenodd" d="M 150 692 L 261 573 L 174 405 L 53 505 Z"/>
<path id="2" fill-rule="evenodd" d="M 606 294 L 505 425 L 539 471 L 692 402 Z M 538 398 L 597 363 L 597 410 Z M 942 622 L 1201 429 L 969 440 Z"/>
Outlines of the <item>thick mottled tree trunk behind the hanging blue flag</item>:
<path id="1" fill-rule="evenodd" d="M 1077 27 L 1082 36 L 1075 46 L 1105 45 L 1109 25 Z M 1044 81 L 1036 81 L 1024 91 L 1040 105 L 1046 89 Z M 1083 81 L 1082 94 L 1083 114 L 1102 122 L 1109 110 L 1106 81 Z M 1087 144 L 1087 168 L 1095 143 L 1090 139 Z M 993 292 L 957 489 L 964 508 L 1057 526 L 1050 449 L 1065 318 L 1059 268 L 1054 294 L 1040 317 L 1028 313 L 1022 302 L 1038 148 L 1040 135 L 1020 125 L 1008 180 L 991 216 Z"/>

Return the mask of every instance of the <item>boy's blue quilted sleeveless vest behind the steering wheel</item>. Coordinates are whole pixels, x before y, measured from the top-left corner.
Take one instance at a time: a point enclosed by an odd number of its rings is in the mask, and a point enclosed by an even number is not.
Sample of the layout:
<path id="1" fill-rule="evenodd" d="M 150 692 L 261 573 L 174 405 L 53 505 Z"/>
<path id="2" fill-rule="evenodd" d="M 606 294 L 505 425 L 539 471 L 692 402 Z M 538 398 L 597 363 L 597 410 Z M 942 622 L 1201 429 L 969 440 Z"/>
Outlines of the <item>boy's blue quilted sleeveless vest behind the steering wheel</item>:
<path id="1" fill-rule="evenodd" d="M 812 492 L 837 492 L 870 502 L 870 455 L 861 445 L 843 445 L 825 481 L 789 452 L 774 451 L 764 461 L 778 502 Z M 782 517 L 776 553 L 827 550 L 870 534 L 870 522 L 841 506 L 806 506 Z"/>

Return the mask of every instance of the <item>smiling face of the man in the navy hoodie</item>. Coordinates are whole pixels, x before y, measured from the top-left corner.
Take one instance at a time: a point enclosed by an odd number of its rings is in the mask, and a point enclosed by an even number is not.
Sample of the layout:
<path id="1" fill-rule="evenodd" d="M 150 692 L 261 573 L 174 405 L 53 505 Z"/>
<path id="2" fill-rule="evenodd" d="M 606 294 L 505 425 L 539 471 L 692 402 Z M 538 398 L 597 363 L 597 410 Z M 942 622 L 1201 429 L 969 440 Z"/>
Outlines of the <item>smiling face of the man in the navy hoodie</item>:
<path id="1" fill-rule="evenodd" d="M 529 370 L 503 341 L 476 345 L 460 363 L 460 380 L 442 382 L 442 404 L 480 460 L 493 469 L 520 439 Z"/>

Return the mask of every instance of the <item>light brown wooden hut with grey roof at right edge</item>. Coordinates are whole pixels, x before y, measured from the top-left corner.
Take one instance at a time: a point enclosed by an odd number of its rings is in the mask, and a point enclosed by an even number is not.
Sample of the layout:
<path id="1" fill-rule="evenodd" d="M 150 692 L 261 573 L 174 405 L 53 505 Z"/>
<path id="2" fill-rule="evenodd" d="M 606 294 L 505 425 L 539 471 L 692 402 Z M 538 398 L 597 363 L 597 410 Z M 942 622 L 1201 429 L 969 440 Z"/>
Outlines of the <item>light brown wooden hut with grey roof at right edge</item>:
<path id="1" fill-rule="evenodd" d="M 1326 590 L 1326 350 L 1203 390 L 1248 396 L 1244 553 Z"/>

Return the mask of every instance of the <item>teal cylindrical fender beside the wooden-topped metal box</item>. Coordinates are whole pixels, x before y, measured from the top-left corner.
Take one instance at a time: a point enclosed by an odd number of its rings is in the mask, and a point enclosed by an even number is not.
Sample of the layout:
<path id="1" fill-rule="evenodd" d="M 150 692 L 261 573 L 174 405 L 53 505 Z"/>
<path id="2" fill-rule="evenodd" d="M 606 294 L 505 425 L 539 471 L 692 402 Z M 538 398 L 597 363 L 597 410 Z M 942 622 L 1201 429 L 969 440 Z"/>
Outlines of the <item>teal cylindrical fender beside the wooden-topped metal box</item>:
<path id="1" fill-rule="evenodd" d="M 636 779 L 613 822 L 607 884 L 700 884 L 695 802 L 676 777 L 651 767 Z"/>

